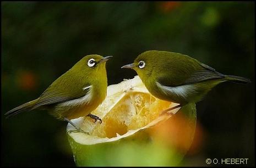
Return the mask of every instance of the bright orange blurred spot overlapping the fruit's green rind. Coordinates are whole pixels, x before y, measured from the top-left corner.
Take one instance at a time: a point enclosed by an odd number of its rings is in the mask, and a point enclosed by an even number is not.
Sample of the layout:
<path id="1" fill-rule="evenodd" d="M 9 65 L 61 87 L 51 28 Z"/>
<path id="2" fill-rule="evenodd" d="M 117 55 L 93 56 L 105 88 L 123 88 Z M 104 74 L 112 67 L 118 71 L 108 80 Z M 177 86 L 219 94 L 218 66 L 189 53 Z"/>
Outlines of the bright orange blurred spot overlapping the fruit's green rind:
<path id="1" fill-rule="evenodd" d="M 198 151 L 201 145 L 202 131 L 198 128 L 194 134 L 194 124 L 179 111 L 167 121 L 164 121 L 152 128 L 149 133 L 158 143 L 164 143 L 175 147 L 180 152 L 193 154 Z M 193 143 L 192 143 L 193 142 Z M 192 147 L 190 147 L 192 145 Z"/>

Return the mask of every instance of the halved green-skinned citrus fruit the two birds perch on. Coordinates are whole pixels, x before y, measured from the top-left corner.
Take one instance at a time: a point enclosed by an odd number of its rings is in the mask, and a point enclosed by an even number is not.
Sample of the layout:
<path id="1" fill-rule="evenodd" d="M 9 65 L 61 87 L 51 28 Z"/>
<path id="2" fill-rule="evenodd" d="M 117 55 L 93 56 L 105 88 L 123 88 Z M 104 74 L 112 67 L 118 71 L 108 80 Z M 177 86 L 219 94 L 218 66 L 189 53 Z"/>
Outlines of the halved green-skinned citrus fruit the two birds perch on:
<path id="1" fill-rule="evenodd" d="M 157 99 L 138 76 L 107 88 L 90 117 L 72 120 L 85 133 L 68 133 L 78 166 L 176 166 L 193 141 L 195 104 L 162 114 L 175 103 Z M 177 113 L 178 111 L 178 113 Z M 67 131 L 73 129 L 68 124 Z"/>

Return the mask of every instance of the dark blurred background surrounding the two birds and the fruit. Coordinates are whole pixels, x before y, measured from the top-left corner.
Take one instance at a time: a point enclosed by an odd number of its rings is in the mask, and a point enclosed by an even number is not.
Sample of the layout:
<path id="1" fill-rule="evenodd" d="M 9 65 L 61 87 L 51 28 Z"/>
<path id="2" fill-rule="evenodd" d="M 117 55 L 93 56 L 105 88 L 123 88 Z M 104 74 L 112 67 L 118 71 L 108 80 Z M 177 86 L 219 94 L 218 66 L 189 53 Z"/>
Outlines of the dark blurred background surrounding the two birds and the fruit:
<path id="1" fill-rule="evenodd" d="M 5 119 L 87 54 L 113 55 L 108 85 L 133 78 L 120 69 L 152 50 L 190 55 L 252 83 L 226 82 L 197 104 L 198 125 L 182 165 L 248 158 L 254 165 L 254 2 L 2 2 L 1 165 L 73 166 L 66 122 L 45 111 Z"/>

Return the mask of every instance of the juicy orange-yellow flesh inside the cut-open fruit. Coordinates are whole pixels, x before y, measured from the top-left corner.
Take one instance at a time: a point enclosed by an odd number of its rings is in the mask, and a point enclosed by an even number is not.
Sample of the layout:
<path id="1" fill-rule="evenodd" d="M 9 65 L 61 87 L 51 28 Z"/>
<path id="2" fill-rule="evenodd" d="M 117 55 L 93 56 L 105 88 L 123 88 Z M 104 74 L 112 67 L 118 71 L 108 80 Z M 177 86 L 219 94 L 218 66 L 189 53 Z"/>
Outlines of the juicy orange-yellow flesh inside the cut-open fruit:
<path id="1" fill-rule="evenodd" d="M 129 108 L 131 104 L 133 110 Z M 92 135 L 112 138 L 129 130 L 137 130 L 156 119 L 170 104 L 146 93 L 128 94 L 102 119 L 102 124 L 95 127 Z"/>

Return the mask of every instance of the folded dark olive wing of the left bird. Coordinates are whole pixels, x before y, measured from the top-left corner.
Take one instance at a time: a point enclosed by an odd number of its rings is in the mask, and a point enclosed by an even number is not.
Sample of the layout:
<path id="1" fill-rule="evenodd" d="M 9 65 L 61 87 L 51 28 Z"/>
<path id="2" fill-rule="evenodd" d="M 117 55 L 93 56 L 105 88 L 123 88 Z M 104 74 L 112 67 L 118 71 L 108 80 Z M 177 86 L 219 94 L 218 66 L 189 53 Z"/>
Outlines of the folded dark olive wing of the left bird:
<path id="1" fill-rule="evenodd" d="M 86 85 L 83 89 L 78 92 L 74 92 L 70 89 L 59 89 L 48 87 L 45 92 L 43 92 L 34 108 L 40 107 L 42 105 L 50 105 L 55 103 L 62 103 L 68 100 L 78 99 L 80 97 L 85 96 L 89 93 L 91 86 Z"/>

